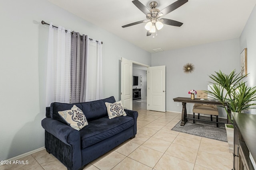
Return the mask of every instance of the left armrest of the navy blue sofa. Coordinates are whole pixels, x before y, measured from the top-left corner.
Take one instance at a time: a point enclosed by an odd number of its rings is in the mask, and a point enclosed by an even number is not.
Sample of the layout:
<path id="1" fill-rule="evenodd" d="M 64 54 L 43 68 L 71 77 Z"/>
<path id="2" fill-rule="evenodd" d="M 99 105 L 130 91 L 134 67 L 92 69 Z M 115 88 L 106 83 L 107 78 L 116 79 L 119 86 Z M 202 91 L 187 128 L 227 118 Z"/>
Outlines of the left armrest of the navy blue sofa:
<path id="1" fill-rule="evenodd" d="M 69 125 L 66 125 L 60 121 L 52 118 L 44 118 L 42 120 L 42 127 L 60 139 L 67 145 L 79 145 L 80 146 L 80 133 L 78 130 L 73 129 Z"/>

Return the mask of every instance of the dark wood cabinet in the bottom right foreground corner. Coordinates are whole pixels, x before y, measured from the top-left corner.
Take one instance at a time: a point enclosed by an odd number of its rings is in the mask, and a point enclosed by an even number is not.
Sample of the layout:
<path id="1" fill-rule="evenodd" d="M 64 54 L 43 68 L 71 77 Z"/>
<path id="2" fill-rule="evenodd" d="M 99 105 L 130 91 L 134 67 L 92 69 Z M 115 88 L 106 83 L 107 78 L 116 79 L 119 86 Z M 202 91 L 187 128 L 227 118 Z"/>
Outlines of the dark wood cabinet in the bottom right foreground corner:
<path id="1" fill-rule="evenodd" d="M 256 115 L 232 113 L 234 118 L 234 170 L 254 170 L 256 160 Z"/>

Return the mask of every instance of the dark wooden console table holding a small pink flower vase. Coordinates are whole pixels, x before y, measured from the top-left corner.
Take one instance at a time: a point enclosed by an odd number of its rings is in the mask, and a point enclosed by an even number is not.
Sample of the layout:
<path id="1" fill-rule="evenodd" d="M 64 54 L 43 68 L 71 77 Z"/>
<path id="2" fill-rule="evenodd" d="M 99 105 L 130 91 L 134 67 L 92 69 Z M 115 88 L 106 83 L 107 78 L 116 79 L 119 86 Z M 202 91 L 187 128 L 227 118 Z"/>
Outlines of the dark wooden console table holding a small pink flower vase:
<path id="1" fill-rule="evenodd" d="M 181 123 L 180 123 L 181 126 L 184 126 L 186 124 L 186 122 L 188 121 L 188 119 L 192 119 L 192 118 L 187 117 L 186 103 L 212 104 L 212 105 L 217 105 L 217 106 L 222 105 L 220 102 L 216 102 L 215 100 L 209 100 L 209 99 L 200 100 L 200 98 L 195 98 L 195 100 L 191 100 L 190 98 L 178 97 L 178 98 L 174 98 L 173 100 L 174 100 L 174 102 L 182 102 L 182 114 L 181 114 Z M 231 117 L 230 109 L 228 109 L 228 114 Z M 195 119 L 195 120 L 198 120 L 198 119 Z M 204 120 L 200 120 L 200 121 L 204 121 Z M 227 118 L 227 123 L 231 124 L 231 122 L 228 118 Z"/>

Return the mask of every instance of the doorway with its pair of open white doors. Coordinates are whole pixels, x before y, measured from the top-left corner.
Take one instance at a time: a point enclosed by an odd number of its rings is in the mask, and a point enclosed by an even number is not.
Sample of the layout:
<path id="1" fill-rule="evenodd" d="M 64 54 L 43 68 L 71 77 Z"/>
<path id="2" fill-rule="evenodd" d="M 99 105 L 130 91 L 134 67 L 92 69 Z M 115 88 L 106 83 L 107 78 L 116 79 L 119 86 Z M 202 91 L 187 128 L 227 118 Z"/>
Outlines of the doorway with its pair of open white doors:
<path id="1" fill-rule="evenodd" d="M 165 92 L 165 66 L 150 67 L 146 64 L 141 64 L 122 57 L 121 61 L 121 100 L 123 106 L 132 110 L 133 104 L 133 89 L 136 90 L 136 97 L 138 98 L 138 87 L 133 86 L 133 65 L 144 66 L 147 68 L 145 78 L 146 83 L 143 83 L 143 75 L 136 75 L 136 86 L 146 86 L 146 93 L 142 94 L 147 98 L 146 106 L 148 110 L 163 111 L 166 110 L 166 92 Z M 136 67 L 136 65 L 134 65 Z M 137 92 L 138 91 L 138 92 Z"/>

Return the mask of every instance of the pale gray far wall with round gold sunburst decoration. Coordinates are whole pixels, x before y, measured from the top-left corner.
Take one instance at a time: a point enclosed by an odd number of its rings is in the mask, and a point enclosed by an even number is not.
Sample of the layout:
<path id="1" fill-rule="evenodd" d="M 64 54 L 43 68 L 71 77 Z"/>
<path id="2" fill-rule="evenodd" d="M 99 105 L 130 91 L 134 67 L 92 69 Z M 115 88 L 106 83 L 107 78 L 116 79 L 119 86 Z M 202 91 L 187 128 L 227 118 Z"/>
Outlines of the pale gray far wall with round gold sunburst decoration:
<path id="1" fill-rule="evenodd" d="M 182 67 L 193 63 L 195 71 L 185 74 Z M 176 97 L 190 97 L 189 90 L 207 90 L 210 81 L 208 75 L 214 71 L 230 73 L 240 68 L 239 39 L 230 39 L 215 43 L 196 45 L 172 51 L 152 54 L 152 66 L 166 65 L 166 110 L 182 111 L 182 104 L 177 106 Z M 192 113 L 193 104 L 187 104 L 188 113 Z M 220 117 L 226 117 L 220 108 Z"/>

